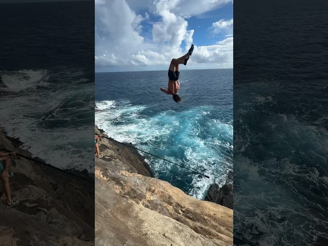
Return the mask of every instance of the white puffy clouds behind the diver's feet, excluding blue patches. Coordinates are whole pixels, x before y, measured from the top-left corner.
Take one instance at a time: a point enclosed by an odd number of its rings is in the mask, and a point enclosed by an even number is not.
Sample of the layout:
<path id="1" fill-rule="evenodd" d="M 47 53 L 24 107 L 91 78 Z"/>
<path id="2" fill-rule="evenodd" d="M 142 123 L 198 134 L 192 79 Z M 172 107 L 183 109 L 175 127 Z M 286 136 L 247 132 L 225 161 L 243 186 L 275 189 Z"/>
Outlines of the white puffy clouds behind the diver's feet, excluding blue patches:
<path id="1" fill-rule="evenodd" d="M 134 67 L 134 70 L 152 66 L 162 66 L 166 69 L 172 58 L 187 53 L 193 43 L 195 31 L 188 30 L 186 16 L 212 10 L 227 2 L 231 1 L 206 0 L 200 4 L 194 0 L 96 0 L 96 71 L 124 66 Z M 157 18 L 151 20 L 150 15 Z M 213 23 L 213 30 L 220 28 L 220 25 L 221 29 L 226 28 L 224 25 L 233 25 L 233 20 L 222 22 L 219 20 Z M 150 37 L 142 35 L 145 31 Z M 187 48 L 181 47 L 182 42 Z M 232 44 L 233 37 L 228 36 L 212 46 L 195 45 L 187 67 L 193 68 L 198 66 L 197 64 L 206 67 L 206 63 L 217 67 L 220 67 L 220 64 L 221 67 L 232 67 Z"/>

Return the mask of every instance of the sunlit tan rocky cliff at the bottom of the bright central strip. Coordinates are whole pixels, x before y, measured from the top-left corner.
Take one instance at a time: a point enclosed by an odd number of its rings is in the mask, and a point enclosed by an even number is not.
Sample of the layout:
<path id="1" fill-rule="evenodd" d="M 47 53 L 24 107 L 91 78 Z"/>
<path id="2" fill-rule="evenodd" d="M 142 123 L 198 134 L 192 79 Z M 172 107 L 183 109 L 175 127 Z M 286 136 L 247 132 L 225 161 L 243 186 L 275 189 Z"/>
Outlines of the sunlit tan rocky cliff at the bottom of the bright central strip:
<path id="1" fill-rule="evenodd" d="M 100 132 L 98 132 L 100 133 Z M 233 211 L 152 178 L 144 158 L 106 138 L 95 159 L 96 245 L 233 245 Z"/>

